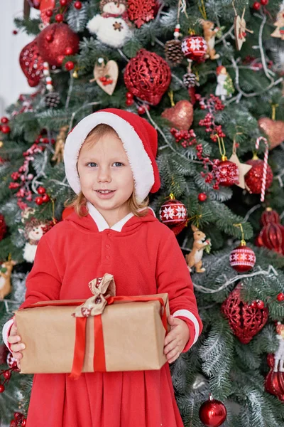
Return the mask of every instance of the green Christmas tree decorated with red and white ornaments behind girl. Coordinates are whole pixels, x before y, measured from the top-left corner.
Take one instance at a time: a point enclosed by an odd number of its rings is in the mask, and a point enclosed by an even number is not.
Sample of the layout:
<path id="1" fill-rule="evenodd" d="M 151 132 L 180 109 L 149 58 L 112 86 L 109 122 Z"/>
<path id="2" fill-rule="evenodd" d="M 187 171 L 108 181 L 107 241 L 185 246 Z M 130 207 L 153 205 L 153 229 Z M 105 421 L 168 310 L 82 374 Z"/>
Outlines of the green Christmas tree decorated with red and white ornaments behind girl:
<path id="1" fill-rule="evenodd" d="M 15 21 L 34 35 L 20 56 L 34 92 L 1 118 L 0 325 L 40 237 L 70 214 L 67 132 L 104 107 L 142 115 L 159 139 L 151 207 L 204 323 L 171 366 L 185 427 L 284 426 L 283 13 L 278 0 L 29 0 Z M 0 421 L 26 425 L 32 376 L 4 344 L 0 369 Z"/>

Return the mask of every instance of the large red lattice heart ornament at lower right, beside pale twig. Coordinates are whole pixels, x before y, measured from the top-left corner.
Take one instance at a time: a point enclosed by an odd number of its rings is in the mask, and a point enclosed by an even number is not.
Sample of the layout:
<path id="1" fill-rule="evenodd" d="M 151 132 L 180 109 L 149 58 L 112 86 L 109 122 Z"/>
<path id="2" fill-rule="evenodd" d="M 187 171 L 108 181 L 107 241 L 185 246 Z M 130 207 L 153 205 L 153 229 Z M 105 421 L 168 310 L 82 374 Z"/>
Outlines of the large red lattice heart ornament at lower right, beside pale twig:
<path id="1" fill-rule="evenodd" d="M 262 330 L 268 320 L 268 308 L 249 305 L 241 299 L 241 284 L 229 294 L 222 304 L 222 312 L 229 326 L 242 344 L 248 344 Z"/>

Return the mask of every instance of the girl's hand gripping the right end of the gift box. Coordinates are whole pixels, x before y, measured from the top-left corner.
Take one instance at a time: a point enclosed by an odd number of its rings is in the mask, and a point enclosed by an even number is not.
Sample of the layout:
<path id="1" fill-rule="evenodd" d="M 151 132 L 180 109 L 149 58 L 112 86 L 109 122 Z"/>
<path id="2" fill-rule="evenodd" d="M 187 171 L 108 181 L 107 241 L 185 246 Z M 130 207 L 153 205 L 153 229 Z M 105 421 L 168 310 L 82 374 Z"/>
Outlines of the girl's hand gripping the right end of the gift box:
<path id="1" fill-rule="evenodd" d="M 175 362 L 190 339 L 190 331 L 186 322 L 178 317 L 169 316 L 170 332 L 165 337 L 164 353 L 169 363 Z"/>

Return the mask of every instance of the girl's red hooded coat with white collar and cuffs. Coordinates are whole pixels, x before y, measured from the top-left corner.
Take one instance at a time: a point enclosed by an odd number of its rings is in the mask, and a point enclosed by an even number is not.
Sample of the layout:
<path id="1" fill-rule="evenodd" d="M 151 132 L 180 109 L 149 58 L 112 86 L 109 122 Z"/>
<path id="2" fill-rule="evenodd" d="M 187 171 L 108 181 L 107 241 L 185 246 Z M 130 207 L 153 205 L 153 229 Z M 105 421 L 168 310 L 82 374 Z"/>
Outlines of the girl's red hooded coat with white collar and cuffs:
<path id="1" fill-rule="evenodd" d="M 202 323 L 190 273 L 173 231 L 150 210 L 142 218 L 129 214 L 109 228 L 91 205 L 86 217 L 73 213 L 54 226 L 40 239 L 21 307 L 38 300 L 87 299 L 89 281 L 104 273 L 114 275 L 116 295 L 168 292 L 171 314 L 190 329 L 184 351 L 196 341 Z M 26 426 L 183 424 L 166 363 L 157 371 L 94 372 L 77 381 L 69 374 L 36 374 Z"/>

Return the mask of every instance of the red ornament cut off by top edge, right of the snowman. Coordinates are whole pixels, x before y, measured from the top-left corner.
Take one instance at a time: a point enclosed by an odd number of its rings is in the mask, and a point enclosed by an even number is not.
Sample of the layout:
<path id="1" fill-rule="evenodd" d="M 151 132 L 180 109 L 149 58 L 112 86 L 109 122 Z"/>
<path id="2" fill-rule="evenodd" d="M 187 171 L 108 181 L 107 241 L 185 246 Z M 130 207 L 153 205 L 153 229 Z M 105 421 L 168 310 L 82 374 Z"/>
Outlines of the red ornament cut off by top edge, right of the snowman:
<path id="1" fill-rule="evenodd" d="M 151 21 L 155 16 L 155 0 L 128 0 L 127 14 L 131 21 L 140 28 L 143 23 Z"/>

